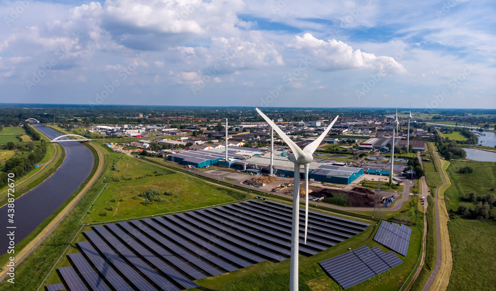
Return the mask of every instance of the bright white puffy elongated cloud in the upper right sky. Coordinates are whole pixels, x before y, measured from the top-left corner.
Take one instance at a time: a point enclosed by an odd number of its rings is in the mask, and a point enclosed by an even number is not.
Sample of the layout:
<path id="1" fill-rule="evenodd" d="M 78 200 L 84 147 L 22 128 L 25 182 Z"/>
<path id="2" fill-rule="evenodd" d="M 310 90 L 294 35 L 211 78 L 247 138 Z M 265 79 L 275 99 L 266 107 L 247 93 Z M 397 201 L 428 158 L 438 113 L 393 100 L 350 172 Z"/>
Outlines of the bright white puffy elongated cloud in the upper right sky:
<path id="1" fill-rule="evenodd" d="M 372 68 L 374 71 L 384 70 L 390 74 L 405 74 L 407 70 L 394 58 L 353 51 L 347 44 L 334 39 L 323 41 L 306 33 L 296 36 L 288 45 L 313 58 L 313 66 L 322 71 Z"/>

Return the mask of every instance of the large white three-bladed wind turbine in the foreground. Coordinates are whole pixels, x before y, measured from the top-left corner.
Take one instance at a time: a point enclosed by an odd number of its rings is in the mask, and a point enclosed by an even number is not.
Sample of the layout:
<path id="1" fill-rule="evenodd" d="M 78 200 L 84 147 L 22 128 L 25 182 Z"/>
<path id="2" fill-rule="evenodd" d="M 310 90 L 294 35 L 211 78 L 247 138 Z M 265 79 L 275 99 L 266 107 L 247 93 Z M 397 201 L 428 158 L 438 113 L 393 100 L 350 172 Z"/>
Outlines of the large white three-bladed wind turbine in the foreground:
<path id="1" fill-rule="evenodd" d="M 293 219 L 291 232 L 291 270 L 290 270 L 290 291 L 298 291 L 298 253 L 300 240 L 300 166 L 305 168 L 305 244 L 307 244 L 307 229 L 309 216 L 309 166 L 313 160 L 313 152 L 320 145 L 320 142 L 327 135 L 338 116 L 332 120 L 324 132 L 303 150 L 294 143 L 269 117 L 265 116 L 258 108 L 255 108 L 260 116 L 279 134 L 279 136 L 288 144 L 293 153 L 288 156 L 288 159 L 295 164 L 295 180 L 293 191 Z"/>

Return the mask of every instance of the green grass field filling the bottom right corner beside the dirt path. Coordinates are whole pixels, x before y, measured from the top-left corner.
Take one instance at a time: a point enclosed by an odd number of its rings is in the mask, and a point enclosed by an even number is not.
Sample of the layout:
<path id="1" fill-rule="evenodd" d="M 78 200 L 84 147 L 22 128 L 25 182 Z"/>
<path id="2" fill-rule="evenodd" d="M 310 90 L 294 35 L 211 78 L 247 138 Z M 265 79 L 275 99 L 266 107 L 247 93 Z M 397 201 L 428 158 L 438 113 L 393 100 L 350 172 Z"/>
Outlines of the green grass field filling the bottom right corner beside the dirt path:
<path id="1" fill-rule="evenodd" d="M 455 219 L 448 229 L 453 269 L 447 290 L 495 290 L 496 223 Z"/>

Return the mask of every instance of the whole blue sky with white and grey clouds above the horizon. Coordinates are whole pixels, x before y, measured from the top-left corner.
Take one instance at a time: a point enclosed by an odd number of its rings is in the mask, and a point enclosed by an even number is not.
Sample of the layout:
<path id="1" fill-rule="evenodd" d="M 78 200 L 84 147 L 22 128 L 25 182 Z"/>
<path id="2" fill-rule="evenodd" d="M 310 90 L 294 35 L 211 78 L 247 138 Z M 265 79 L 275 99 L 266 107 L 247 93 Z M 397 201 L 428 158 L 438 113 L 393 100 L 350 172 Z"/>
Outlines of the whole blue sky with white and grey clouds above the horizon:
<path id="1" fill-rule="evenodd" d="M 0 103 L 496 108 L 495 7 L 0 1 Z"/>

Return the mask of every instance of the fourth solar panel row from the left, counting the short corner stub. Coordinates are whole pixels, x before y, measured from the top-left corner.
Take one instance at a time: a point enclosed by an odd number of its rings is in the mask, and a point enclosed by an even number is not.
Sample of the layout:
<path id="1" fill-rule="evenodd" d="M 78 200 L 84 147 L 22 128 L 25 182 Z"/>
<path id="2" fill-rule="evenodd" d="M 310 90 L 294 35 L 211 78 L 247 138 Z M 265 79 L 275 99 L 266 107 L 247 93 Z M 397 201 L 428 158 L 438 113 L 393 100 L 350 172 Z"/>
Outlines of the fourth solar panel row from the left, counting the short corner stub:
<path id="1" fill-rule="evenodd" d="M 98 254 L 89 241 L 80 241 L 77 245 L 115 290 L 133 291 L 124 279 Z"/>

